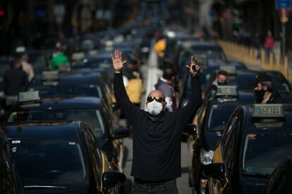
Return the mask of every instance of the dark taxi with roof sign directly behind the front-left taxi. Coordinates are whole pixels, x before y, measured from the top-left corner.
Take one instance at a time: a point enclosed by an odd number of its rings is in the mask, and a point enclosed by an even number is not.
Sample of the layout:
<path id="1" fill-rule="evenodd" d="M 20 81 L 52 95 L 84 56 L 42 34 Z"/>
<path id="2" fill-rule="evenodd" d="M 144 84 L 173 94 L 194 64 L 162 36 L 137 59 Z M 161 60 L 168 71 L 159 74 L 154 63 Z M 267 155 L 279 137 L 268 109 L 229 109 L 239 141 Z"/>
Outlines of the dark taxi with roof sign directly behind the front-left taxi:
<path id="1" fill-rule="evenodd" d="M 94 97 L 43 98 L 38 91 L 20 92 L 6 122 L 83 120 L 90 126 L 111 169 L 123 172 L 123 142 L 129 131 L 117 127 L 104 101 Z"/>

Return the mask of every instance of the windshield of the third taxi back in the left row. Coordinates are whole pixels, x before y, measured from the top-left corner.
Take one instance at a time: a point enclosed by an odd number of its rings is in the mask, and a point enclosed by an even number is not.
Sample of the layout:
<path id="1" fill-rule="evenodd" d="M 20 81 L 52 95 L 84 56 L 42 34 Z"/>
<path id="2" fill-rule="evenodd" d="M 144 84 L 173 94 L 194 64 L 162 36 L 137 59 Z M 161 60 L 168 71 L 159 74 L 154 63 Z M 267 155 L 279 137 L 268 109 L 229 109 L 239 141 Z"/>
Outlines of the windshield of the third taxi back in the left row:
<path id="1" fill-rule="evenodd" d="M 31 91 L 39 91 L 44 97 L 48 96 L 94 96 L 102 98 L 102 92 L 99 86 L 35 86 Z"/>

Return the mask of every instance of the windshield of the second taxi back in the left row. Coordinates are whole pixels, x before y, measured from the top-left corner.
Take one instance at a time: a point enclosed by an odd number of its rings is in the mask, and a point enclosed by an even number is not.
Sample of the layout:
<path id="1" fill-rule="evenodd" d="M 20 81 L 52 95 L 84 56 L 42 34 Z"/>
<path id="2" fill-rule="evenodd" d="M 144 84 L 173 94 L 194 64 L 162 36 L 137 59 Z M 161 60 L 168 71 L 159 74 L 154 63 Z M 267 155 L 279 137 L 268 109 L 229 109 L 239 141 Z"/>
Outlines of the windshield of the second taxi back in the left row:
<path id="1" fill-rule="evenodd" d="M 18 114 L 21 113 L 21 114 Z M 104 119 L 99 110 L 29 110 L 29 112 L 12 112 L 8 122 L 16 121 L 61 121 L 82 120 L 90 126 L 96 138 L 104 136 Z"/>

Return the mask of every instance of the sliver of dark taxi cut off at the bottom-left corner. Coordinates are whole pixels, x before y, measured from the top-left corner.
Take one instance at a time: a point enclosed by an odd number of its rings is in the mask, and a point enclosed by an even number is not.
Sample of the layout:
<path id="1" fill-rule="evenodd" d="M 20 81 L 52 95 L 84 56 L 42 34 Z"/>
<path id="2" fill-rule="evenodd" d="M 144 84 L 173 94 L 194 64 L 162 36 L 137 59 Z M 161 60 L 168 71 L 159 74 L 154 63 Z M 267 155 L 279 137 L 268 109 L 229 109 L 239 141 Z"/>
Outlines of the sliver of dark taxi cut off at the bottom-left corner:
<path id="1" fill-rule="evenodd" d="M 23 194 L 16 161 L 3 130 L 0 129 L 0 193 Z"/>

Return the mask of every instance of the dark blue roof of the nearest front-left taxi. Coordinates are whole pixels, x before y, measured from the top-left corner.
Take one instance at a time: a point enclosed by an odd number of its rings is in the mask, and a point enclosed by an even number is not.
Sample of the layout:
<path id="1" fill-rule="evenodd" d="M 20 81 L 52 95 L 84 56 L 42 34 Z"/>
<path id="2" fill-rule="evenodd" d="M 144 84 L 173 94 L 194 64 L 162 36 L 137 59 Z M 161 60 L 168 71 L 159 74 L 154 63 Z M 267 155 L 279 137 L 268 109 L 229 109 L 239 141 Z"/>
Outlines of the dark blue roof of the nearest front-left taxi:
<path id="1" fill-rule="evenodd" d="M 7 138 L 74 139 L 79 135 L 79 121 L 11 122 L 0 124 Z"/>

